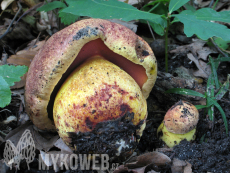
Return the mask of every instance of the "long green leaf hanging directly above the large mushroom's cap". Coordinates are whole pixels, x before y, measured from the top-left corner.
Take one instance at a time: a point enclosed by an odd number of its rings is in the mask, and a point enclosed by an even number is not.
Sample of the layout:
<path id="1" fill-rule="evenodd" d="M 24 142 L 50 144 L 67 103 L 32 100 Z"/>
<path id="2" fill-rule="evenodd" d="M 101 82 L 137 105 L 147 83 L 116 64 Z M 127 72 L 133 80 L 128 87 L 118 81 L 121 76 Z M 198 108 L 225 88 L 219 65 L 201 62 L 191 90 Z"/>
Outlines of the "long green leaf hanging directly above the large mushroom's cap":
<path id="1" fill-rule="evenodd" d="M 69 6 L 62 12 L 76 16 L 120 19 L 123 21 L 145 19 L 157 24 L 164 22 L 161 15 L 137 10 L 135 7 L 117 0 L 66 0 L 66 2 Z"/>

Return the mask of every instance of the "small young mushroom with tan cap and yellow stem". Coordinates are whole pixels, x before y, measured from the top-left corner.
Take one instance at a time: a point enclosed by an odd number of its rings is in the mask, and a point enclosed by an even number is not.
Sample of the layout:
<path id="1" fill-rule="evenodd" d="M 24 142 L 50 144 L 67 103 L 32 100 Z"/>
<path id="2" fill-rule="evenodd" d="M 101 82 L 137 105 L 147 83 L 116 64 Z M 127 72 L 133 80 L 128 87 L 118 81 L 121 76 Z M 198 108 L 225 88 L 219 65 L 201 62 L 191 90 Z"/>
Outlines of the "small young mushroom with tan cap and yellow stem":
<path id="1" fill-rule="evenodd" d="M 180 100 L 167 111 L 157 129 L 157 134 L 168 147 L 172 148 L 184 139 L 187 141 L 195 139 L 198 120 L 199 112 L 196 107 Z"/>

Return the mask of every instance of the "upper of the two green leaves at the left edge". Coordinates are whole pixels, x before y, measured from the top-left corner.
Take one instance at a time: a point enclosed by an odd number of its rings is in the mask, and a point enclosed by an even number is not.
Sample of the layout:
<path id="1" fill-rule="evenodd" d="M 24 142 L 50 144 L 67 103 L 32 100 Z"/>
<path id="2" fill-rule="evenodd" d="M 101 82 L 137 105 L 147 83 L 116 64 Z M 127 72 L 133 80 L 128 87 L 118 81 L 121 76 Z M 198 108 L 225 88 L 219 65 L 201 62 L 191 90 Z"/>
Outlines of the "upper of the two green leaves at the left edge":
<path id="1" fill-rule="evenodd" d="M 14 82 L 18 82 L 21 80 L 21 76 L 23 76 L 28 70 L 27 66 L 9 66 L 2 65 L 0 66 L 0 76 L 8 83 L 9 86 L 13 86 Z"/>

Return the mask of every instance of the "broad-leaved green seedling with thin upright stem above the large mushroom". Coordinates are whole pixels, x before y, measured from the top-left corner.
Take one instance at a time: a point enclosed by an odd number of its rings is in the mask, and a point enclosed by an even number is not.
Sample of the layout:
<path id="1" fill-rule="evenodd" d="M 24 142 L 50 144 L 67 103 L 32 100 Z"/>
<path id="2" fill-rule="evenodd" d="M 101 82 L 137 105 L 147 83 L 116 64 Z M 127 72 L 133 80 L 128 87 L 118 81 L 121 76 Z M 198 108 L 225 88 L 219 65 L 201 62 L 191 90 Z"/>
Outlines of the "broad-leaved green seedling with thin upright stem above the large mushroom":
<path id="1" fill-rule="evenodd" d="M 101 19 L 120 19 L 123 21 L 142 19 L 148 21 L 153 30 L 165 36 L 165 69 L 168 71 L 168 30 L 172 23 L 182 22 L 184 33 L 191 37 L 194 34 L 202 40 L 212 37 L 230 41 L 230 29 L 212 21 L 230 23 L 229 11 L 216 12 L 211 8 L 195 10 L 189 0 L 156 0 L 138 10 L 135 7 L 117 0 L 66 0 L 54 1 L 40 7 L 39 11 L 50 11 L 60 8 L 59 17 L 64 24 L 70 24 L 79 16 Z M 189 10 L 179 9 L 186 6 Z M 163 9 L 163 10 L 162 10 Z M 173 14 L 177 12 L 178 14 Z M 154 14 L 159 13 L 159 14 Z M 173 19 L 173 20 L 172 20 Z"/>

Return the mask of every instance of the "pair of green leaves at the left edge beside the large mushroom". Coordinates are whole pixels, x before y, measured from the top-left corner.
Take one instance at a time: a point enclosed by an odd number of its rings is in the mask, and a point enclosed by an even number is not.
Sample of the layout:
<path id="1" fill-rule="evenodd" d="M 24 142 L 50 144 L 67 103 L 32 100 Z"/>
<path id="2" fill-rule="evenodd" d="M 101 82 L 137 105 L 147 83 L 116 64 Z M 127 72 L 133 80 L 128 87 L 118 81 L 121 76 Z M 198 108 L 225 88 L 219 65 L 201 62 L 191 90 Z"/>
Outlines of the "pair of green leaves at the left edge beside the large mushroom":
<path id="1" fill-rule="evenodd" d="M 0 66 L 0 107 L 7 106 L 11 101 L 10 87 L 14 85 L 14 82 L 21 80 L 28 70 L 27 66 Z"/>

